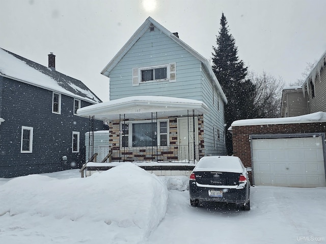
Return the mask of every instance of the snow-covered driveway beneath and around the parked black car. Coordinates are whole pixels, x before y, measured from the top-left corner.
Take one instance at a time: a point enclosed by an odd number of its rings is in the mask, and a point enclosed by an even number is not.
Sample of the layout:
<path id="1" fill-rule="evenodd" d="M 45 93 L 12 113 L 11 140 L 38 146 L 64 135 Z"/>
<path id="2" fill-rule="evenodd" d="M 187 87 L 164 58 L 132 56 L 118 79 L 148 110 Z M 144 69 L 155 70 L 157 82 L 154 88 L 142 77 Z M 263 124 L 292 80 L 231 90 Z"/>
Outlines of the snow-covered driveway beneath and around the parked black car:
<path id="1" fill-rule="evenodd" d="M 252 187 L 251 210 L 191 207 L 170 191 L 165 219 L 146 243 L 326 243 L 326 188 Z"/>

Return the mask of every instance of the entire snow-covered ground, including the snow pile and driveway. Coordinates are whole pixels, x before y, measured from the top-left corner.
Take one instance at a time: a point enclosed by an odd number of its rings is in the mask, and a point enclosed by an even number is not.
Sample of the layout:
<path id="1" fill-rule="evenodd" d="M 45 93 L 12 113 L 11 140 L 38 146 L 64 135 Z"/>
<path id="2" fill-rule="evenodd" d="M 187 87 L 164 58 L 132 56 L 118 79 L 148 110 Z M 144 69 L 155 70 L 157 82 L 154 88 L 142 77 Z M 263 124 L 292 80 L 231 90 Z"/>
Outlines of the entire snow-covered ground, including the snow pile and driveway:
<path id="1" fill-rule="evenodd" d="M 1 243 L 326 243 L 326 188 L 252 187 L 251 210 L 189 204 L 188 178 L 130 163 L 0 179 Z"/>

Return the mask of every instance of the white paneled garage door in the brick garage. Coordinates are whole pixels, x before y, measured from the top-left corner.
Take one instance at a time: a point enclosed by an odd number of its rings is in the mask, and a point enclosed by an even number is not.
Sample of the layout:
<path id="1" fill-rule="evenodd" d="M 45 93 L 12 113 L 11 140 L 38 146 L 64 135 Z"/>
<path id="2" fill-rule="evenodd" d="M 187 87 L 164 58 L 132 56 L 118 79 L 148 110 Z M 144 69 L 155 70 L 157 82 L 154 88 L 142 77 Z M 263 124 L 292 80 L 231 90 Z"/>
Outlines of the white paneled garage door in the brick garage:
<path id="1" fill-rule="evenodd" d="M 322 138 L 253 139 L 255 185 L 325 187 Z"/>

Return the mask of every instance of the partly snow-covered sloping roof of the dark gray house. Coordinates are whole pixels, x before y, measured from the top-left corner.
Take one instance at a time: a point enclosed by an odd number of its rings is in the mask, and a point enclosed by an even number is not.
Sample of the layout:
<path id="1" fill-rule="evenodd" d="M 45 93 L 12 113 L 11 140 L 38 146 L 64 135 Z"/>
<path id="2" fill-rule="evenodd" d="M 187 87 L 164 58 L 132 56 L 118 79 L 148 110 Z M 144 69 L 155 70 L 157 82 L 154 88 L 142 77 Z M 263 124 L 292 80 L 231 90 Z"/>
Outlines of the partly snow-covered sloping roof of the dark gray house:
<path id="1" fill-rule="evenodd" d="M 90 103 L 101 100 L 80 80 L 0 48 L 0 75 Z"/>

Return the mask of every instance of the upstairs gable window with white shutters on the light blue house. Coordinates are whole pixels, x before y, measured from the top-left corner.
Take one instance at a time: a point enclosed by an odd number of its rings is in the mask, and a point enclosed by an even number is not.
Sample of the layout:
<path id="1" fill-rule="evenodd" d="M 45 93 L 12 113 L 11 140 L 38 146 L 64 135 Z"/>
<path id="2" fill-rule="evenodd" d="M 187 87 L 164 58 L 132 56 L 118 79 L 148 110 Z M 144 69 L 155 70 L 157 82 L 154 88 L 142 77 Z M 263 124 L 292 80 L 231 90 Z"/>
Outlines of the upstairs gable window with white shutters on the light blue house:
<path id="1" fill-rule="evenodd" d="M 176 63 L 132 69 L 132 85 L 151 81 L 175 81 Z"/>

